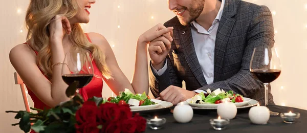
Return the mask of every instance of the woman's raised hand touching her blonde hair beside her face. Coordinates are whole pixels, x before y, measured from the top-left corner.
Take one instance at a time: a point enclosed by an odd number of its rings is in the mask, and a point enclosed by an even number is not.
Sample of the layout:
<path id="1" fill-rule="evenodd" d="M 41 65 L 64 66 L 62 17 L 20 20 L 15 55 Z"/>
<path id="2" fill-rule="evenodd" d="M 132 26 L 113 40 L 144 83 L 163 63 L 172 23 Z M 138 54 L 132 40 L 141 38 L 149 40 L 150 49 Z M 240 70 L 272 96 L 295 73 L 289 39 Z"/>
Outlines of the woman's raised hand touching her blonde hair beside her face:
<path id="1" fill-rule="evenodd" d="M 56 15 L 49 26 L 50 39 L 63 39 L 65 33 L 72 32 L 70 22 L 67 17 L 63 15 Z"/>

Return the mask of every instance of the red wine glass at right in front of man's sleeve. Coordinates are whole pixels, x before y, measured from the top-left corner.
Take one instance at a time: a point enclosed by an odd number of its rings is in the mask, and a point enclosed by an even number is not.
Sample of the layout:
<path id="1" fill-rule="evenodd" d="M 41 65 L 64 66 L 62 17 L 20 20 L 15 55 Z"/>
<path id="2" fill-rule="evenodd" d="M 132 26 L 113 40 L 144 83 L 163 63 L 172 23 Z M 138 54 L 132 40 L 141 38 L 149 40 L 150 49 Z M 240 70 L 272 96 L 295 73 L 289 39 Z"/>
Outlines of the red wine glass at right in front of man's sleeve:
<path id="1" fill-rule="evenodd" d="M 250 72 L 254 77 L 264 83 L 265 86 L 265 106 L 268 107 L 268 86 L 277 79 L 281 72 L 281 64 L 275 48 L 257 47 L 254 49 Z M 279 113 L 272 112 L 270 115 L 277 116 Z"/>

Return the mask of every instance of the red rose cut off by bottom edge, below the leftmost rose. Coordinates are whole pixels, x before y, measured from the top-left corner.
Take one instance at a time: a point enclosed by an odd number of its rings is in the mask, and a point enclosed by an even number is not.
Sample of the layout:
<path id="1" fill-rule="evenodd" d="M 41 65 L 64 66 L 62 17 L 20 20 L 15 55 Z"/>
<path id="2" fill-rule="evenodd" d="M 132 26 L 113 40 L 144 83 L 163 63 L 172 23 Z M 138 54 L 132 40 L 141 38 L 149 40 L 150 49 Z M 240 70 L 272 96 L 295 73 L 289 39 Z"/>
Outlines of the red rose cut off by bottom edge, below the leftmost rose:
<path id="1" fill-rule="evenodd" d="M 96 122 L 85 122 L 82 125 L 76 124 L 77 133 L 99 133 L 100 129 L 97 128 Z"/>

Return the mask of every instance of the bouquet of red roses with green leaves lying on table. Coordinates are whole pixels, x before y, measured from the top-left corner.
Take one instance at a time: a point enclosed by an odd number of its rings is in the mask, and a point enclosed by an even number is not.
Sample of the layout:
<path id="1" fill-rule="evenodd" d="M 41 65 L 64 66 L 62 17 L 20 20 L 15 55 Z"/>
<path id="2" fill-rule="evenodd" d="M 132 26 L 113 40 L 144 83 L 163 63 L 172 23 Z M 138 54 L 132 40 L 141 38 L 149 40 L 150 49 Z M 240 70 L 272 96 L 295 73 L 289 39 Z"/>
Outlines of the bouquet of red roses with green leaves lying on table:
<path id="1" fill-rule="evenodd" d="M 67 89 L 67 96 L 73 95 L 74 84 Z M 103 98 L 93 97 L 86 102 L 80 95 L 51 109 L 37 109 L 38 113 L 7 111 L 17 113 L 20 129 L 29 132 L 143 132 L 146 120 L 130 110 L 129 105 L 110 103 Z M 33 125 L 31 125 L 31 123 Z"/>

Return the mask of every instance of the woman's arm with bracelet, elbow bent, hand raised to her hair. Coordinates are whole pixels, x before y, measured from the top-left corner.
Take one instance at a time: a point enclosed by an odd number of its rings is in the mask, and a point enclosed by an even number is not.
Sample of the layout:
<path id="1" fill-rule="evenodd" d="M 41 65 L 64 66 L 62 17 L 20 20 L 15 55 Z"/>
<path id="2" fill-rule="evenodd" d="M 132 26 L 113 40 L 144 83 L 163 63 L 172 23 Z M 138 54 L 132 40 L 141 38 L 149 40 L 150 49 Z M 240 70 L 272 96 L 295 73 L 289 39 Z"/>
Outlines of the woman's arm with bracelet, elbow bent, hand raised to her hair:
<path id="1" fill-rule="evenodd" d="M 62 25 L 62 22 L 64 25 Z M 52 64 L 64 60 L 62 40 L 65 33 L 70 33 L 69 20 L 61 15 L 55 16 L 50 24 L 50 45 Z M 10 51 L 10 61 L 21 79 L 43 103 L 54 107 L 68 101 L 65 90 L 68 85 L 62 80 L 62 65 L 55 65 L 52 70 L 52 83 L 40 72 L 36 64 L 36 54 L 26 44 L 18 45 Z M 69 69 L 67 69 L 69 71 Z"/>

